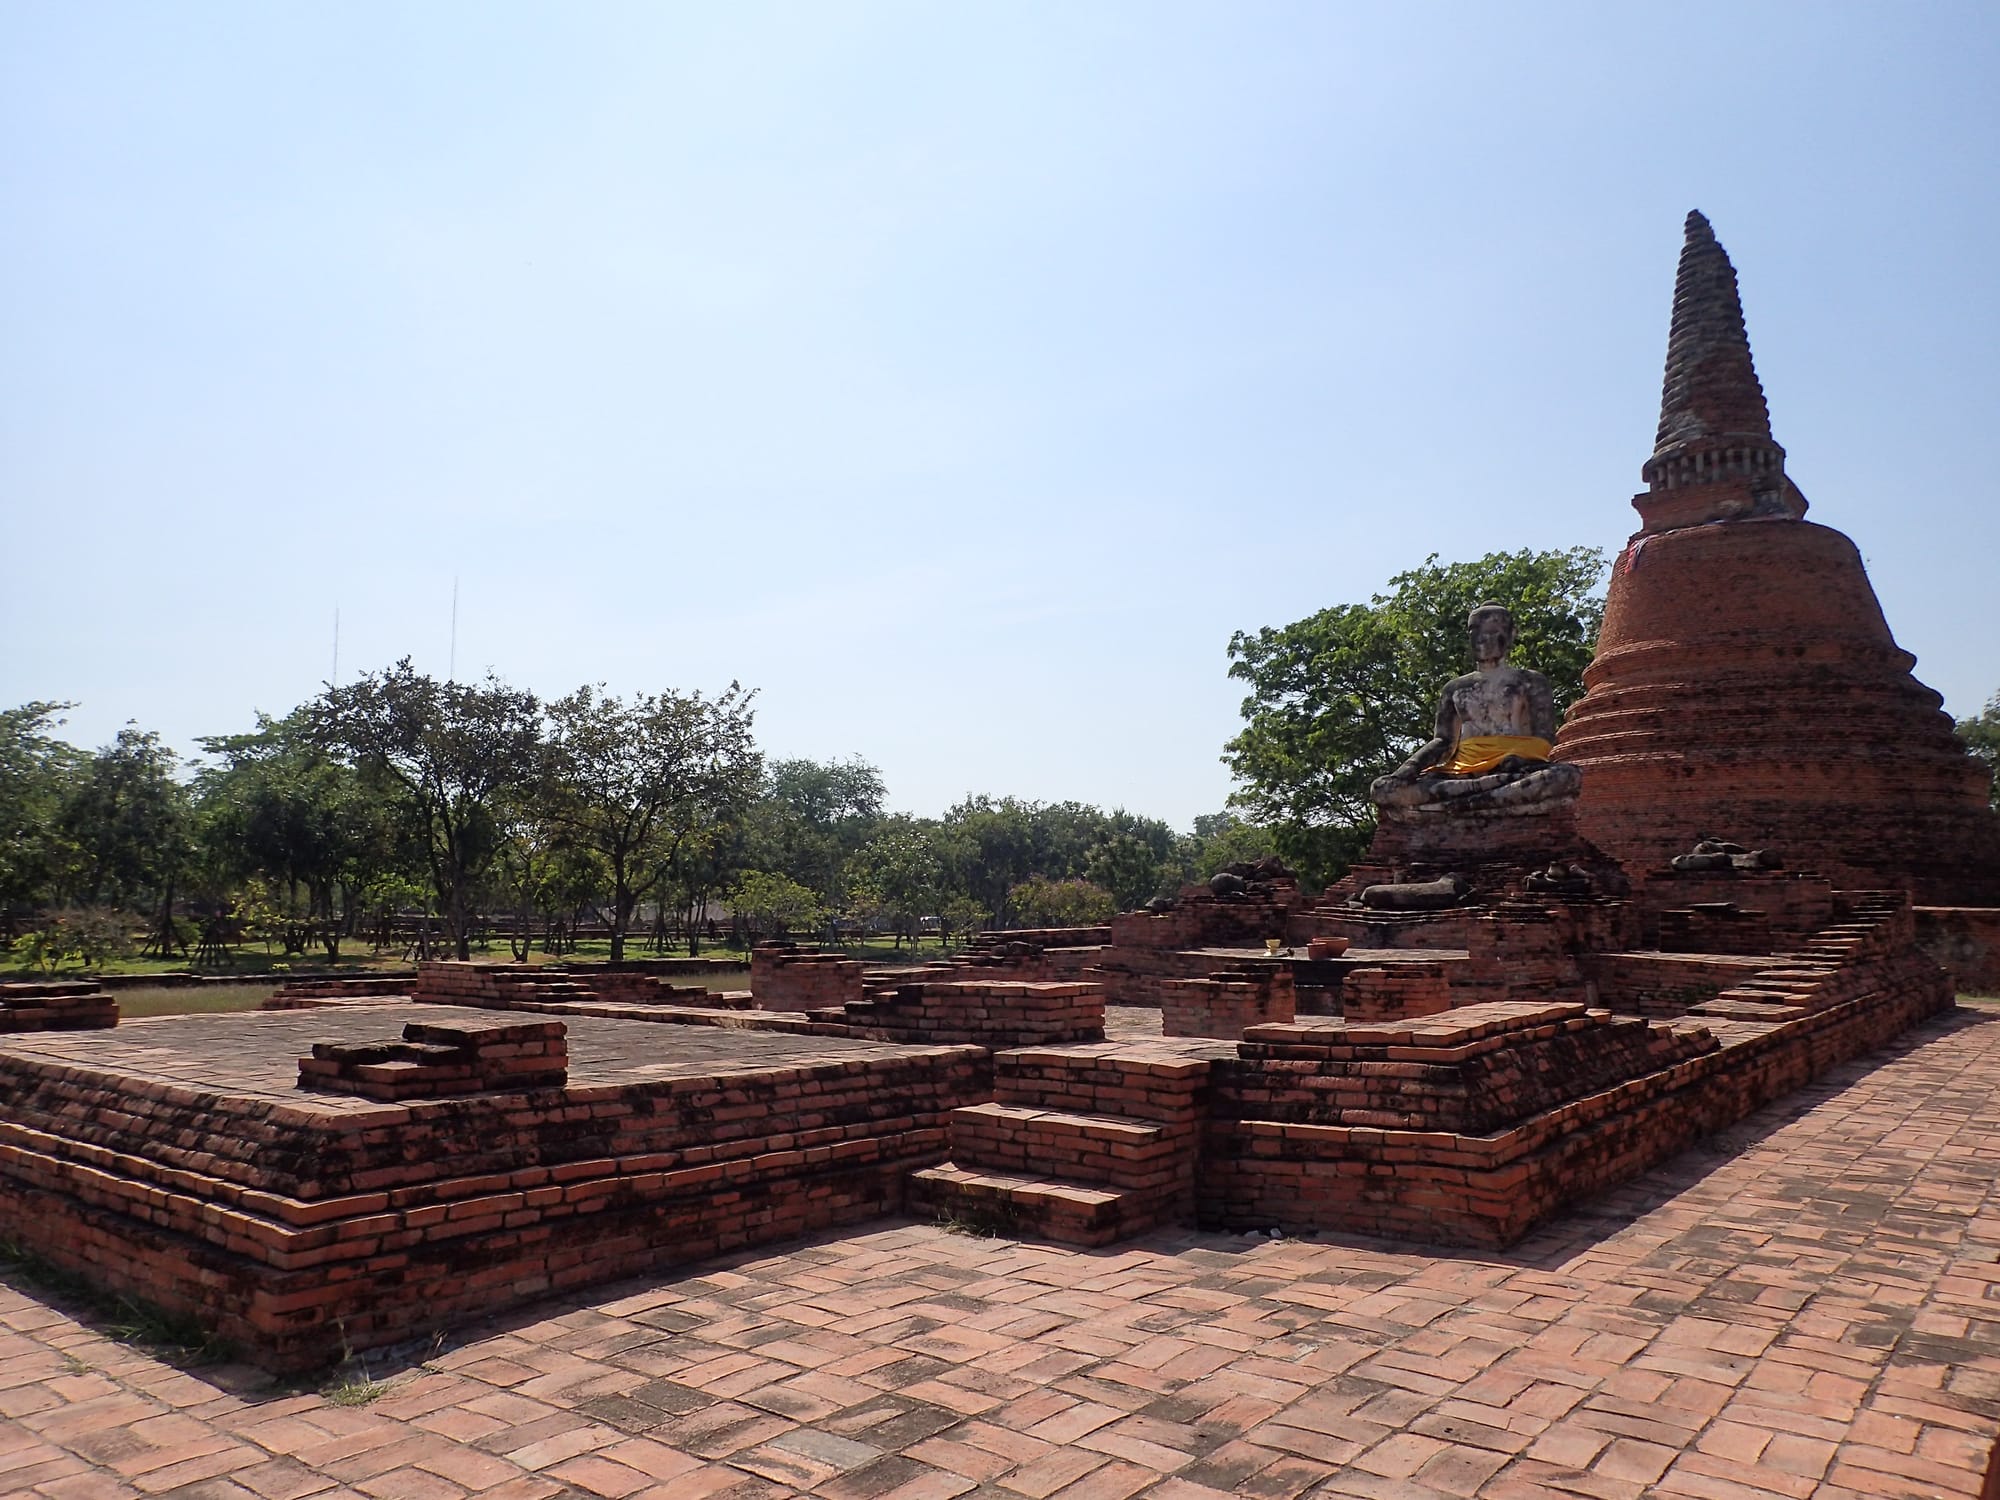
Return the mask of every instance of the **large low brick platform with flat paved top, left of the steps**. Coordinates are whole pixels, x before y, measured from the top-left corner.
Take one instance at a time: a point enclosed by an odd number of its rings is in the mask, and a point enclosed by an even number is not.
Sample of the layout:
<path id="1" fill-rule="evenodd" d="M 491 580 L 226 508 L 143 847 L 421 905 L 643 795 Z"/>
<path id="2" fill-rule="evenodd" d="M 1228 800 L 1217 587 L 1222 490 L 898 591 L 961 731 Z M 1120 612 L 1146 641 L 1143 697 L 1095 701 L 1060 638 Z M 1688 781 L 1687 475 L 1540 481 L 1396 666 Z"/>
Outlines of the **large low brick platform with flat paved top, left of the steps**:
<path id="1" fill-rule="evenodd" d="M 990 1092 L 976 1048 L 582 1016 L 562 1092 L 294 1088 L 300 1054 L 404 1022 L 480 1030 L 398 1004 L 0 1044 L 0 1236 L 294 1368 L 890 1212 L 944 1156 L 944 1116 Z"/>

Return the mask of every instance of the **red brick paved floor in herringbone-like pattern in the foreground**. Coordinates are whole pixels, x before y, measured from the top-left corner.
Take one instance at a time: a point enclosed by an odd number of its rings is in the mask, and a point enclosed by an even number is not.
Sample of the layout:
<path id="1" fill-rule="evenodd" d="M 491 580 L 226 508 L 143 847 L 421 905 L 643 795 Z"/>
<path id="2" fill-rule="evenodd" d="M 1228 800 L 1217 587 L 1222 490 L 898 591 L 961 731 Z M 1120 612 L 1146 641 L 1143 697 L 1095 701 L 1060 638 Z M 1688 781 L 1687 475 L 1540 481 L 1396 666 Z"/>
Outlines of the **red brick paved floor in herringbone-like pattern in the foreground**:
<path id="1" fill-rule="evenodd" d="M 1976 1494 L 2000 1010 L 1508 1256 L 870 1232 L 476 1328 L 368 1406 L 0 1288 L 0 1492 L 202 1500 Z"/>

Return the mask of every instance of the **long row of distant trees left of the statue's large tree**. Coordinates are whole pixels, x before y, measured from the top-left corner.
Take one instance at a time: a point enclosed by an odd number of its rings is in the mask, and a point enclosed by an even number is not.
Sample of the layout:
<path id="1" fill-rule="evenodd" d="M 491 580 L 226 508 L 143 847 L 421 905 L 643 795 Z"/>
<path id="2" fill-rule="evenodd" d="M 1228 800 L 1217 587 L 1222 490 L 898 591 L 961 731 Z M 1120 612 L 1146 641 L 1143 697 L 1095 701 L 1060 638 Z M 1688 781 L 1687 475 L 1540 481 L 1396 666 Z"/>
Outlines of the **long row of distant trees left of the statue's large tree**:
<path id="1" fill-rule="evenodd" d="M 136 726 L 82 752 L 56 734 L 68 704 L 22 704 L 0 712 L 0 914 L 44 966 L 134 944 L 224 962 L 252 938 L 464 958 L 502 932 L 524 958 L 578 930 L 614 958 L 724 934 L 914 946 L 1102 922 L 1274 848 L 1234 814 L 1192 832 L 990 796 L 890 814 L 866 760 L 766 760 L 752 698 L 544 702 L 404 660 L 192 762 Z"/>

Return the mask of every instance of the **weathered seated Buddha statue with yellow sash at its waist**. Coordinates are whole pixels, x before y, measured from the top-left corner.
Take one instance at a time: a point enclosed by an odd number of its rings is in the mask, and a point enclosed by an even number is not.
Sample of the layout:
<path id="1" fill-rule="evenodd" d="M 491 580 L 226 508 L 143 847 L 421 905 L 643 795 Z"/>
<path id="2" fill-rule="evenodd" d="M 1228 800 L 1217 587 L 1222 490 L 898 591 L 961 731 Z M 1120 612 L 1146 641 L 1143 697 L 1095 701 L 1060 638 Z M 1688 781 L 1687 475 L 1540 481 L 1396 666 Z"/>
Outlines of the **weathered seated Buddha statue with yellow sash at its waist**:
<path id="1" fill-rule="evenodd" d="M 1548 678 L 1506 660 L 1514 616 L 1480 604 L 1466 616 L 1476 668 L 1444 684 L 1436 736 L 1368 788 L 1386 816 L 1474 812 L 1562 802 L 1582 772 L 1556 764 L 1556 698 Z"/>

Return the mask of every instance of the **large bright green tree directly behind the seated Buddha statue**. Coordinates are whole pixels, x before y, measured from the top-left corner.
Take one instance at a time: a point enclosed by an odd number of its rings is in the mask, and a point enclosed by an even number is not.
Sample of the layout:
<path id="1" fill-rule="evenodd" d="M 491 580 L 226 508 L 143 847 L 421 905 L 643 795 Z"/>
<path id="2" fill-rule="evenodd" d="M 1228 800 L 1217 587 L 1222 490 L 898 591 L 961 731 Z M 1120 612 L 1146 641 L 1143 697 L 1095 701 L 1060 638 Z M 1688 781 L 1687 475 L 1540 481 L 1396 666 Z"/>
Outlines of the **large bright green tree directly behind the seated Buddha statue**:
<path id="1" fill-rule="evenodd" d="M 1558 714 L 1582 696 L 1604 600 L 1590 548 L 1492 552 L 1396 574 L 1368 604 L 1336 604 L 1230 638 L 1230 676 L 1250 686 L 1224 746 L 1230 804 L 1272 830 L 1310 882 L 1338 874 L 1374 832 L 1368 784 L 1430 738 L 1438 692 L 1468 670 L 1466 614 L 1514 612 L 1514 660 L 1544 672 Z"/>

